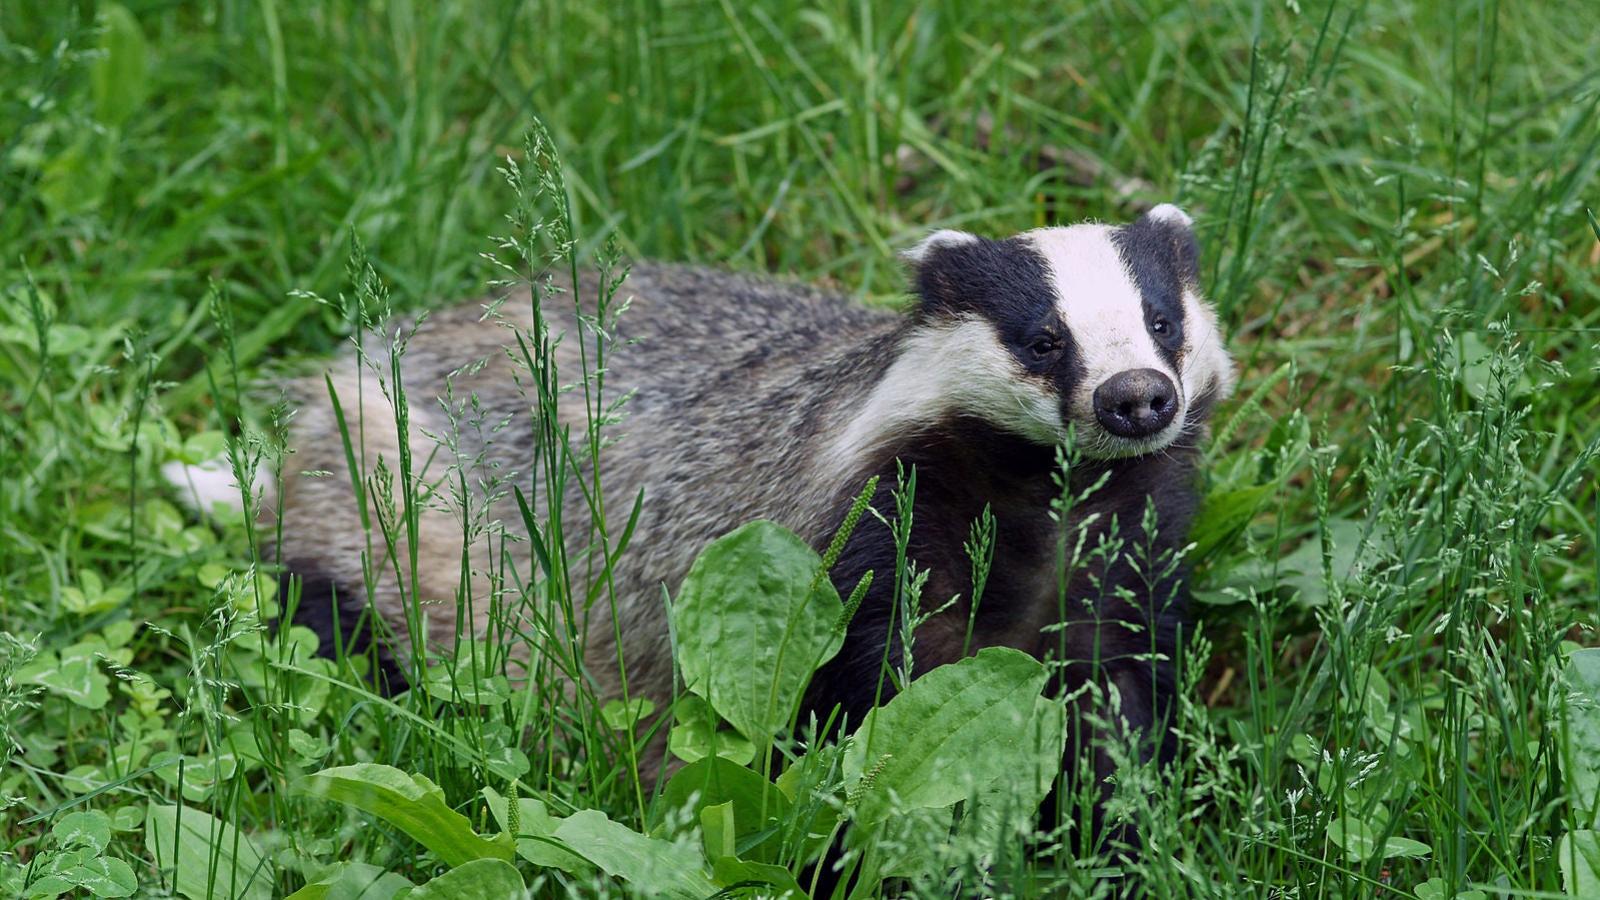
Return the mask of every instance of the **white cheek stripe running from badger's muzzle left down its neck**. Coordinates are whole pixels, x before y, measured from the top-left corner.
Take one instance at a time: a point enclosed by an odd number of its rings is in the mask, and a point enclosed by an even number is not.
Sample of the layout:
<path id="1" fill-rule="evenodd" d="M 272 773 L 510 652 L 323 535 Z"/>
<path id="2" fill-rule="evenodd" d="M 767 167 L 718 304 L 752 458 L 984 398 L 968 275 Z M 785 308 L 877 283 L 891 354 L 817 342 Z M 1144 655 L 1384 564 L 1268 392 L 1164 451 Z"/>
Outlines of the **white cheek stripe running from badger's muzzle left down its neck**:
<path id="1" fill-rule="evenodd" d="M 994 424 L 1030 440 L 1059 442 L 1066 432 L 1059 397 L 1018 373 L 1016 357 L 982 319 L 917 328 L 896 349 L 894 362 L 867 402 L 851 410 L 824 464 L 848 469 L 885 440 L 954 413 L 981 412 Z"/>

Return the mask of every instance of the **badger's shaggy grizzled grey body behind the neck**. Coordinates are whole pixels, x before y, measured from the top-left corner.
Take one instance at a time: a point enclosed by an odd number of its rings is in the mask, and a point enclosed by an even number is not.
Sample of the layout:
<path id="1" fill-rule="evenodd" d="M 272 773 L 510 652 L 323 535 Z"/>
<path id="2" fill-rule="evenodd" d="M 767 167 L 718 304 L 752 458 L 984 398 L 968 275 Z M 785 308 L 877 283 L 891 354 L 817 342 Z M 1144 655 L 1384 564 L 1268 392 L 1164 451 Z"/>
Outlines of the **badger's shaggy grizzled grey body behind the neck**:
<path id="1" fill-rule="evenodd" d="M 576 299 L 586 315 L 594 312 L 598 290 L 597 279 L 579 283 Z M 578 322 L 573 301 L 568 290 L 547 296 L 542 306 L 550 331 L 560 335 L 558 380 L 570 384 L 558 396 L 557 416 L 571 428 L 581 466 L 570 480 L 592 477 L 584 429 L 595 404 L 603 410 L 626 397 L 621 421 L 602 429 L 608 445 L 600 453 L 598 480 L 611 543 L 643 492 L 614 580 L 576 625 L 590 636 L 587 660 L 602 692 L 618 687 L 611 637 L 619 631 L 630 685 L 662 693 L 670 673 L 662 586 L 677 589 L 707 541 L 750 519 L 778 519 L 816 540 L 837 495 L 851 490 L 848 479 L 819 479 L 810 468 L 816 442 L 827 423 L 861 402 L 874 368 L 886 364 L 872 348 L 893 341 L 901 317 L 792 283 L 643 264 L 616 295 L 626 309 L 605 341 L 602 381 L 594 378 L 594 331 Z M 491 618 L 509 617 L 534 634 L 558 625 L 533 626 L 534 610 L 522 609 L 510 588 L 534 575 L 512 487 L 531 493 L 530 500 L 541 496 L 530 488 L 538 464 L 536 404 L 533 389 L 525 388 L 531 380 L 514 333 L 531 330 L 533 307 L 522 293 L 499 304 L 494 315 L 486 317 L 485 309 L 485 303 L 467 303 L 426 317 L 406 340 L 398 365 L 411 477 L 429 495 L 418 514 L 416 609 L 427 618 L 429 639 L 442 647 L 458 634 L 458 609 L 462 636 L 488 634 Z M 533 348 L 530 340 L 530 352 Z M 302 405 L 290 436 L 294 456 L 285 466 L 280 551 L 306 585 L 301 607 L 330 633 L 331 623 L 317 618 L 331 605 L 326 594 L 338 594 L 341 618 L 354 621 L 368 599 L 362 554 L 370 552 L 378 573 L 371 605 L 395 629 L 403 652 L 410 647 L 403 610 L 411 599 L 411 554 L 403 522 L 394 524 L 402 517 L 386 509 L 378 496 L 381 479 L 374 479 L 379 468 L 392 476 L 390 506 L 403 509 L 387 340 L 373 336 L 365 356 L 365 362 L 355 354 L 341 359 L 331 381 L 366 480 L 371 535 L 362 524 L 334 407 L 317 378 L 298 391 Z M 586 367 L 589 392 L 581 384 Z M 382 522 L 390 522 L 394 552 L 379 533 Z M 590 565 L 586 559 L 597 551 L 594 524 L 590 501 L 571 485 L 563 528 L 579 597 L 590 588 L 587 573 L 603 570 L 598 560 Z M 498 538 L 501 532 L 510 544 Z M 464 546 L 472 570 L 467 580 L 461 577 Z M 502 552 L 515 560 L 515 577 Z M 488 573 L 501 573 L 504 581 L 496 585 Z"/>

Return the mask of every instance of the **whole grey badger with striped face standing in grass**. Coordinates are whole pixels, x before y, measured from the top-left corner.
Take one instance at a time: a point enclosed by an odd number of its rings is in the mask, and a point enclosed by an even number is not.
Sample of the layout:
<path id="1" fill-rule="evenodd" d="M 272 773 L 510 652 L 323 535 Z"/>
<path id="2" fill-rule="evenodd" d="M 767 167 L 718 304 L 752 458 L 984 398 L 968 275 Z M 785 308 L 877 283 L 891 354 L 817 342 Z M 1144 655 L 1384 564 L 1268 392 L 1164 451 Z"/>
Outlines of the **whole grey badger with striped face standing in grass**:
<path id="1" fill-rule="evenodd" d="M 1139 554 L 1176 557 L 1184 546 L 1198 498 L 1198 445 L 1214 404 L 1234 386 L 1216 314 L 1202 296 L 1190 218 L 1158 205 L 1122 226 L 1040 227 L 1006 239 L 936 231 L 904 261 L 909 314 L 706 267 L 630 269 L 629 306 L 605 360 L 606 391 L 627 396 L 626 416 L 610 426 L 597 482 L 613 511 L 627 511 L 640 495 L 642 503 L 606 586 L 616 602 L 579 613 L 582 677 L 602 697 L 619 695 L 621 657 L 630 695 L 669 701 L 662 591 L 678 588 L 709 541 L 770 519 L 822 549 L 869 479 L 878 477 L 872 506 L 893 512 L 898 476 L 915 471 L 906 556 L 928 573 L 922 593 L 939 607 L 914 634 L 915 673 L 981 647 L 1021 649 L 1054 661 L 1058 690 L 1090 681 L 1115 687 L 1120 721 L 1150 733 L 1146 753 L 1165 753 L 1170 740 L 1154 732 L 1163 730 L 1176 690 L 1182 572 Z M 558 370 L 573 373 L 584 365 L 582 341 L 573 336 L 592 325 L 566 306 L 546 301 L 542 315 L 566 335 L 554 354 Z M 501 484 L 526 474 L 536 432 L 526 418 L 534 413 L 506 325 L 533 325 L 526 296 L 494 315 L 477 303 L 424 319 L 398 365 L 376 351 L 350 354 L 326 381 L 298 386 L 304 405 L 293 420 L 288 469 L 307 474 L 278 485 L 278 556 L 326 645 L 333 612 L 354 623 L 366 607 L 382 617 L 402 658 L 424 644 L 451 647 L 462 634 L 496 633 L 485 572 L 504 546 L 464 536 L 470 530 L 459 512 L 435 498 L 418 512 L 416 565 L 395 565 L 394 556 L 411 551 L 373 549 L 349 466 L 354 460 L 365 479 L 379 468 L 397 472 L 408 450 L 414 469 L 432 468 L 419 484 L 438 482 L 451 466 L 491 466 Z M 395 424 L 390 372 L 410 397 L 405 434 Z M 467 396 L 480 418 L 499 424 L 459 428 L 450 410 Z M 581 432 L 594 410 L 582 391 L 568 391 L 555 416 Z M 347 447 L 342 434 L 358 439 Z M 445 434 L 453 437 L 442 440 Z M 1064 447 L 1075 460 L 1066 484 Z M 526 538 L 510 493 L 482 500 L 506 533 Z M 1062 506 L 1064 493 L 1077 501 Z M 373 490 L 365 503 L 379 514 Z M 974 610 L 966 543 L 986 509 L 992 562 Z M 590 533 L 590 503 L 579 492 L 568 492 L 562 512 L 568 535 Z M 1062 573 L 1064 535 L 1077 548 L 1110 549 L 1085 552 L 1090 562 Z M 859 721 L 883 700 L 885 649 L 890 665 L 902 653 L 894 567 L 890 527 L 864 519 L 830 575 L 842 596 L 867 572 L 878 578 L 843 649 L 816 674 L 813 708 L 837 706 Z M 586 569 L 574 572 L 582 578 Z M 426 636 L 408 634 L 410 578 Z M 1109 773 L 1104 751 L 1069 748 L 1077 753 L 1096 753 L 1096 773 Z"/>

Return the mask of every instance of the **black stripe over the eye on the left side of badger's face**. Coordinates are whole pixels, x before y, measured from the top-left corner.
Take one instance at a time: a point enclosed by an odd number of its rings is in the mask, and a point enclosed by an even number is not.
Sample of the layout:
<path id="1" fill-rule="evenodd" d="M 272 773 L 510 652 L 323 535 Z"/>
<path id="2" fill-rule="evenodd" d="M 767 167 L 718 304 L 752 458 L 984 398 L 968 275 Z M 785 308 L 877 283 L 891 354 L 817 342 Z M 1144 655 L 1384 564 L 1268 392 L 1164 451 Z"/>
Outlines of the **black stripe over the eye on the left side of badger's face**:
<path id="1" fill-rule="evenodd" d="M 942 245 L 917 267 L 917 291 L 926 317 L 978 315 L 994 325 L 1000 343 L 1032 376 L 1051 381 L 1062 396 L 1082 376 L 1072 333 L 1056 307 L 1050 264 L 1032 240 L 979 239 Z M 1042 336 L 1056 351 L 1038 357 L 1030 348 Z"/>

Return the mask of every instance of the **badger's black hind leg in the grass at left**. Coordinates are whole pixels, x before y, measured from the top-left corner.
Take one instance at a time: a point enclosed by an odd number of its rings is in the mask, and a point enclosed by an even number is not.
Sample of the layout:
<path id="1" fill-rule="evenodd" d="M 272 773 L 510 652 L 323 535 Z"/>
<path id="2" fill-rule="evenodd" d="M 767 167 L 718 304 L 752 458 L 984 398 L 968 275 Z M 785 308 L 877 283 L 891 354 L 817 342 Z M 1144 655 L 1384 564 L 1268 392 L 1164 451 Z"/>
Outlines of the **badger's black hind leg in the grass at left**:
<path id="1" fill-rule="evenodd" d="M 299 599 L 293 610 L 290 602 L 294 583 Z M 317 633 L 317 655 L 334 660 L 341 650 L 346 658 L 365 657 L 368 677 L 378 693 L 390 697 L 406 689 L 406 677 L 389 649 L 374 637 L 373 610 L 354 589 L 334 583 L 315 562 L 286 564 L 286 573 L 278 580 L 278 604 L 293 623 Z"/>

